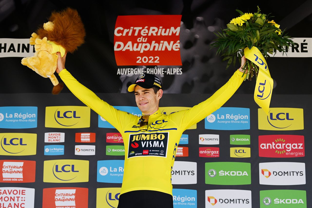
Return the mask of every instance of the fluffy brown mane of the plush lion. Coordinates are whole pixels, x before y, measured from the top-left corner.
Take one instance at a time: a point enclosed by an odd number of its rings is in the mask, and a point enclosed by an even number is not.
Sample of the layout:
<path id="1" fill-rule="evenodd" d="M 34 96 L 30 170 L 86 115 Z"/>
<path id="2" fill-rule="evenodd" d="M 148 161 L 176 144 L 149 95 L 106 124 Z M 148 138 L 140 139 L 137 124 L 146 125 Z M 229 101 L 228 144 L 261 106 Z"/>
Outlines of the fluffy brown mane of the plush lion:
<path id="1" fill-rule="evenodd" d="M 39 28 L 36 33 L 40 39 L 47 37 L 49 41 L 61 45 L 70 53 L 84 43 L 85 28 L 75 9 L 67 8 L 61 12 L 53 12 L 49 21 L 54 23 L 53 31 Z"/>

